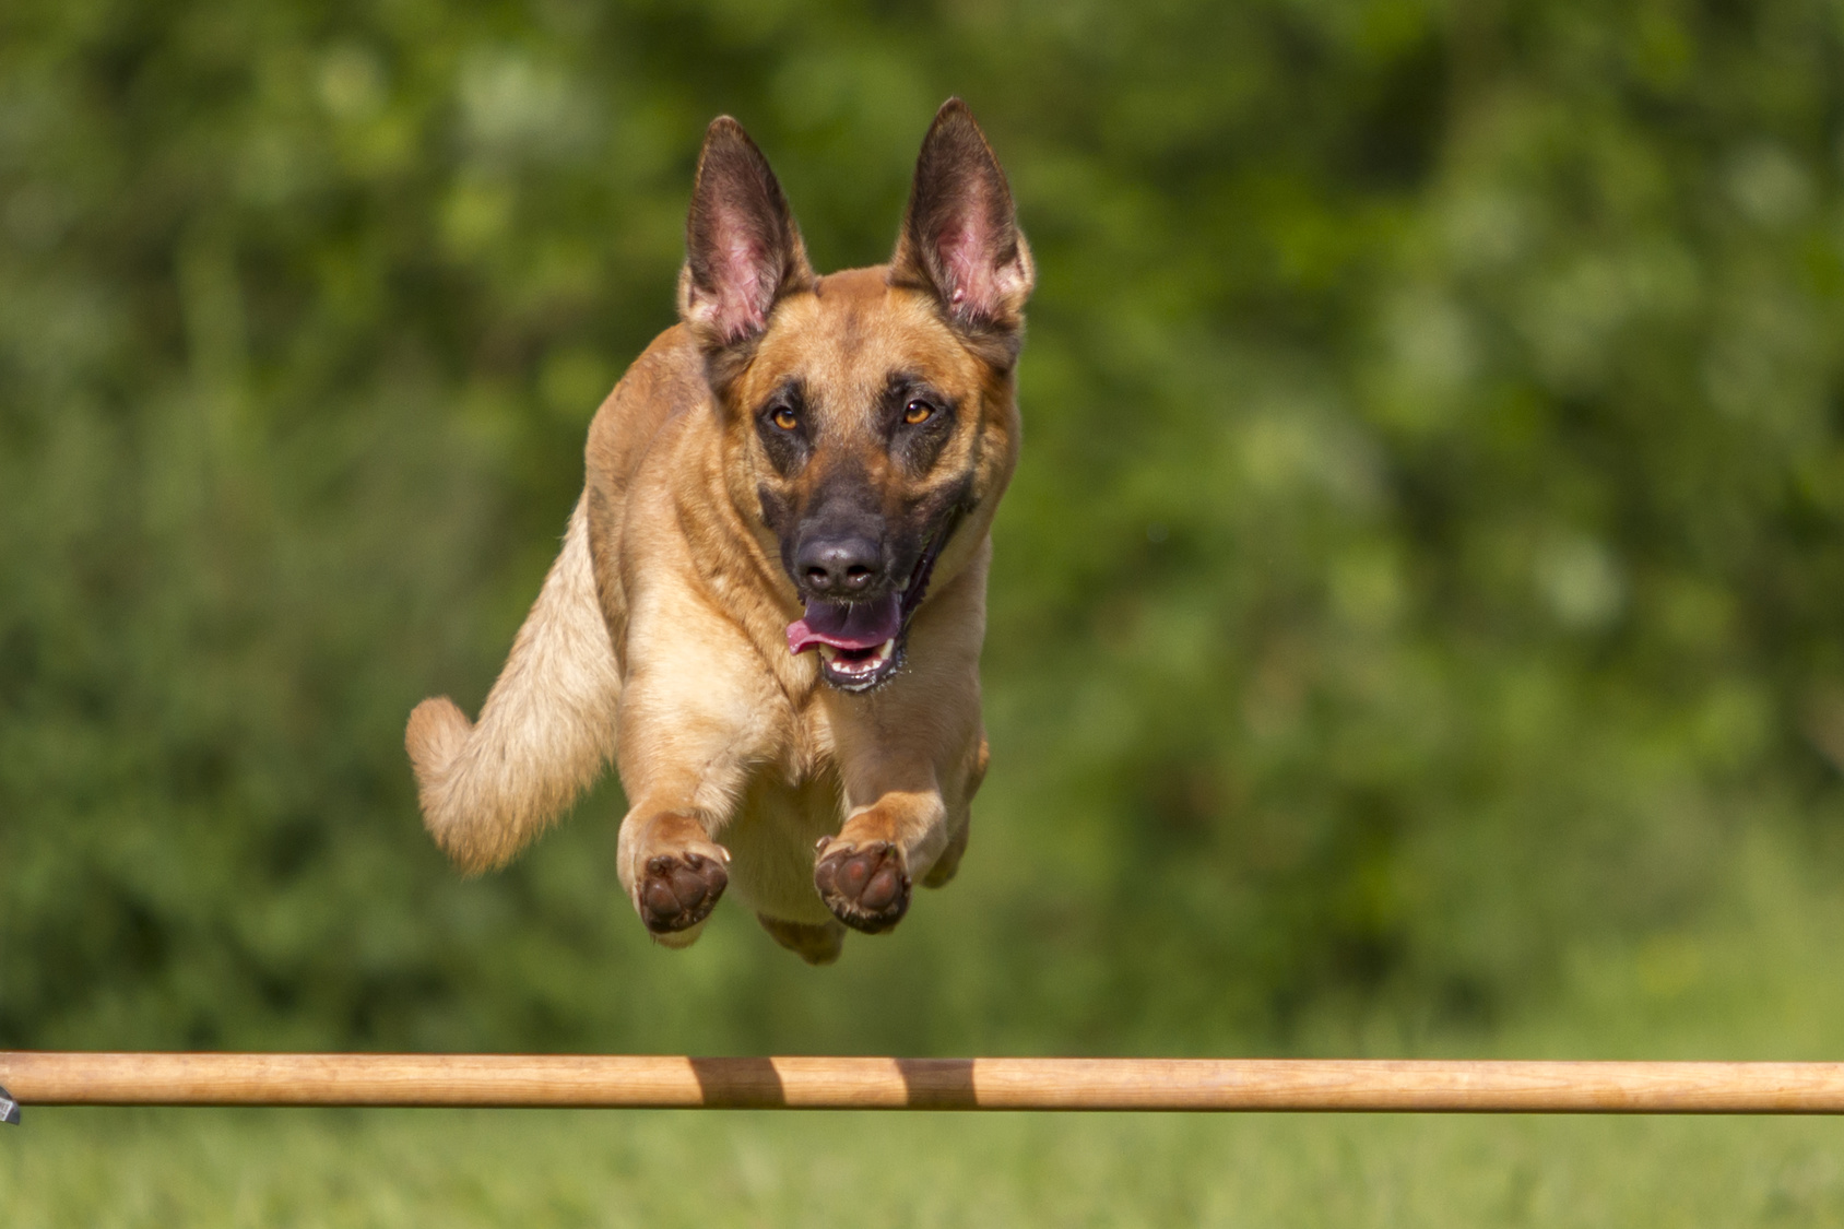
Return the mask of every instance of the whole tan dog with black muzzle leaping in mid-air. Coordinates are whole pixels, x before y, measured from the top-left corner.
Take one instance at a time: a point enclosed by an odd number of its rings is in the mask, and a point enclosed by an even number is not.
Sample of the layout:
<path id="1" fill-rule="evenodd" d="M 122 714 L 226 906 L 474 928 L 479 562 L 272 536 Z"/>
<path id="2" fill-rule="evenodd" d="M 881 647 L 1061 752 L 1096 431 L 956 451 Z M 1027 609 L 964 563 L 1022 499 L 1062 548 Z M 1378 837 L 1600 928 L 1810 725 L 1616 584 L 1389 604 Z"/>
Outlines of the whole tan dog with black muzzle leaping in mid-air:
<path id="1" fill-rule="evenodd" d="M 725 888 L 811 963 L 946 884 L 987 771 L 992 513 L 1018 459 L 1031 251 L 972 113 L 887 266 L 819 277 L 736 120 L 699 155 L 680 325 L 588 430 L 586 483 L 479 723 L 409 714 L 422 816 L 505 864 L 614 755 L 618 875 L 692 943 Z M 721 843 L 719 843 L 721 841 Z"/>

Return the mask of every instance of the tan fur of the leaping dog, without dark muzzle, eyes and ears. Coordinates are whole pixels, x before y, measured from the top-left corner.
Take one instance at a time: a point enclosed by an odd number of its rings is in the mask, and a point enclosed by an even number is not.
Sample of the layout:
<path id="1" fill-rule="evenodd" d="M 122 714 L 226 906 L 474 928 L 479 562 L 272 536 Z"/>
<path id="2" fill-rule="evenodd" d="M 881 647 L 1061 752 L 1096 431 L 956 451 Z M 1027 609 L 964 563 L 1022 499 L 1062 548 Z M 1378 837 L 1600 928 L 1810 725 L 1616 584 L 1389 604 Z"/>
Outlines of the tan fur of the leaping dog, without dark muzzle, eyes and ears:
<path id="1" fill-rule="evenodd" d="M 1014 316 L 1029 292 L 1022 240 L 1018 253 Z M 699 332 L 699 292 L 682 292 L 692 327 L 664 332 L 590 426 L 583 500 L 479 723 L 430 699 L 406 742 L 426 825 L 470 871 L 507 862 L 612 753 L 629 797 L 616 875 L 636 908 L 649 865 L 704 858 L 727 867 L 778 941 L 824 961 L 843 930 L 815 889 L 815 849 L 883 841 L 909 875 L 940 884 L 966 847 L 987 768 L 988 531 L 1016 465 L 1018 410 L 990 338 L 955 328 L 916 277 L 885 266 L 813 277 L 804 251 L 795 257 L 723 393 L 708 375 L 727 340 Z M 721 306 L 747 323 L 749 301 Z M 894 369 L 964 408 L 920 478 L 892 471 L 859 426 L 857 408 Z M 826 686 L 815 653 L 787 650 L 802 598 L 762 513 L 762 491 L 780 480 L 738 408 L 789 378 L 832 406 L 826 456 L 867 467 L 892 509 L 928 498 L 929 483 L 963 482 L 974 496 L 915 611 L 909 664 L 869 694 Z M 656 937 L 677 947 L 701 928 Z"/>

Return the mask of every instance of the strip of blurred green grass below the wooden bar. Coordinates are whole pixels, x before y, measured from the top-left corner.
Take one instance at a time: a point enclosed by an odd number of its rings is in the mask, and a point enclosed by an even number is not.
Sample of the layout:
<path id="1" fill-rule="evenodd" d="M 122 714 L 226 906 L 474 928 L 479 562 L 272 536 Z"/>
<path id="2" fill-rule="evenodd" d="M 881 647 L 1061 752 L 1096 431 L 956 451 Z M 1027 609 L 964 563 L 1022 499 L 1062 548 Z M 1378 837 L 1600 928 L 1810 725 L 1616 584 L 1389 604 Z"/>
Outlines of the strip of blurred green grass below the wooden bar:
<path id="1" fill-rule="evenodd" d="M 9 1229 L 1844 1225 L 1844 1122 L 35 1111 Z"/>

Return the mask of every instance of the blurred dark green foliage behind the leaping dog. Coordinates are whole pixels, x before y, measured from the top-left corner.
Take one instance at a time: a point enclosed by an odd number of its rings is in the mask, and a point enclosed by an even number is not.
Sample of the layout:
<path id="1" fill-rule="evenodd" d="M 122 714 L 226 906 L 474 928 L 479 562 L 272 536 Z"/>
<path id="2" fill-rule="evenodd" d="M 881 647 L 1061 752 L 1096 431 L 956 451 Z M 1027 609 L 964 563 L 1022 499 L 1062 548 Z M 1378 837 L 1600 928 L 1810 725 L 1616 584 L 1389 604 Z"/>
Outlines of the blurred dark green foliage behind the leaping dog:
<path id="1" fill-rule="evenodd" d="M 457 878 L 402 723 L 503 661 L 704 124 L 841 268 L 955 92 L 1042 269 L 961 880 L 664 952 L 612 784 Z M 1759 841 L 1844 880 L 1840 175 L 1796 0 L 9 0 L 0 1044 L 1431 1048 L 1595 945 L 1695 980 Z"/>

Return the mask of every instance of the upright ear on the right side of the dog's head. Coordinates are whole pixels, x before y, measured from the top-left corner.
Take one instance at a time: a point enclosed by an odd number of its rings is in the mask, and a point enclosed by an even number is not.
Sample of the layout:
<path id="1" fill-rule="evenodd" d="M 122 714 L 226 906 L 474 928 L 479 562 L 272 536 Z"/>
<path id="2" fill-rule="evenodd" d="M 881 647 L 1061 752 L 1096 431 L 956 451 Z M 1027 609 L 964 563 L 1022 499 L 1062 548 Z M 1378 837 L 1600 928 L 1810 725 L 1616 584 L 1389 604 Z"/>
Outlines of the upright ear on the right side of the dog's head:
<path id="1" fill-rule="evenodd" d="M 942 103 L 922 138 L 891 282 L 933 292 L 955 328 L 1016 358 L 1036 269 L 1005 172 L 959 98 Z"/>

